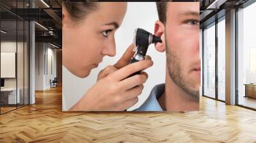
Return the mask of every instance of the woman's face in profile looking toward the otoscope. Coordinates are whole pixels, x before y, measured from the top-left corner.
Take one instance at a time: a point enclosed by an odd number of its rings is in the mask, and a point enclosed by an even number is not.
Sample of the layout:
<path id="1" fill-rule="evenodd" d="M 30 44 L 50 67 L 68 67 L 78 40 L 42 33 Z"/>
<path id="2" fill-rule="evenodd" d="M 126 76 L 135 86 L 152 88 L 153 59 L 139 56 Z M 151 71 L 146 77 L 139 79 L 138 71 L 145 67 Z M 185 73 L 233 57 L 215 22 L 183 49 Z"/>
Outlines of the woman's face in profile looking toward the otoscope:
<path id="1" fill-rule="evenodd" d="M 127 3 L 97 3 L 80 22 L 63 8 L 63 65 L 77 77 L 87 77 L 104 56 L 115 56 L 115 31 L 122 24 Z"/>

